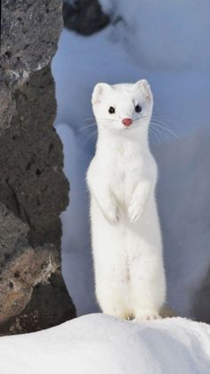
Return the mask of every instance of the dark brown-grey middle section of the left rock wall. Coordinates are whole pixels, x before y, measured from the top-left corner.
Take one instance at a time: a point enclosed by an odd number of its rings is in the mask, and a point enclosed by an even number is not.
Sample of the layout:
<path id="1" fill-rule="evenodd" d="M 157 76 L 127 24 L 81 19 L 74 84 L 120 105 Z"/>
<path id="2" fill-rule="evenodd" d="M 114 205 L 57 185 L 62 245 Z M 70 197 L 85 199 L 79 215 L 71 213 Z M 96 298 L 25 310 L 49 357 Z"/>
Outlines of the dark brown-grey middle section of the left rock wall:
<path id="1" fill-rule="evenodd" d="M 69 187 L 62 173 L 61 140 L 52 128 L 56 102 L 50 69 L 32 73 L 12 99 L 11 126 L 0 137 L 0 184 L 6 180 L 12 198 L 7 206 L 28 222 L 30 244 L 60 245 L 59 214 L 68 204 Z"/>

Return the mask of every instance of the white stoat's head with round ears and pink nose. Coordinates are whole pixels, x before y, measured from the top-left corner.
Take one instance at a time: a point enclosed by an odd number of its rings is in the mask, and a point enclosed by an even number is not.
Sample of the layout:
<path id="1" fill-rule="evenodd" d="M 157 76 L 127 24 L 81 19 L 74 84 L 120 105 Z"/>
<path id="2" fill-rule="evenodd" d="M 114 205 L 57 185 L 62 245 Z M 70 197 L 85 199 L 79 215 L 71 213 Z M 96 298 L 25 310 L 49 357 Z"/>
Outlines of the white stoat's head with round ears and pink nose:
<path id="1" fill-rule="evenodd" d="M 148 129 L 153 97 L 149 83 L 141 79 L 134 84 L 109 86 L 98 83 L 93 90 L 93 112 L 99 128 L 135 133 Z"/>

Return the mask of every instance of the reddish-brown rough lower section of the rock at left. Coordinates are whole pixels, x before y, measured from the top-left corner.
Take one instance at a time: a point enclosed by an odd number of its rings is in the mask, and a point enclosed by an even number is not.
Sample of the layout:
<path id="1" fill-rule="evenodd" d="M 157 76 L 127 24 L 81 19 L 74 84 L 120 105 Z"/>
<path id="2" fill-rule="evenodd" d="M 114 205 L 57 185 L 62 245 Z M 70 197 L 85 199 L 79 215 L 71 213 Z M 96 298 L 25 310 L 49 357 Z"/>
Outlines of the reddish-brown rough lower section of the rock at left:
<path id="1" fill-rule="evenodd" d="M 3 205 L 1 204 L 1 212 Z M 0 323 L 19 315 L 31 299 L 33 287 L 47 282 L 51 274 L 59 267 L 59 256 L 54 245 L 33 248 L 28 245 L 27 226 L 12 213 L 4 209 L 1 216 L 7 214 L 11 228 L 3 236 L 5 266 L 0 275 Z M 20 232 L 20 235 L 18 233 Z M 2 237 L 2 236 L 1 236 Z M 3 245 L 1 243 L 1 245 Z M 7 249 L 13 249 L 8 254 Z M 51 311 L 49 311 L 51 315 Z"/>

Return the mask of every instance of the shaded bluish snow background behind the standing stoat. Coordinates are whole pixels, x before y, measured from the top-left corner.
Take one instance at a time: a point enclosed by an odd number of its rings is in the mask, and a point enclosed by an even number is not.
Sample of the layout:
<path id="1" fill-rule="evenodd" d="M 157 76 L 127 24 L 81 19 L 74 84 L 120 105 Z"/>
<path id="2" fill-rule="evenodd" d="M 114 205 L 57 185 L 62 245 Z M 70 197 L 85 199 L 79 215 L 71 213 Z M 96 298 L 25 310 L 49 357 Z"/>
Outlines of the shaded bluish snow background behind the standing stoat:
<path id="1" fill-rule="evenodd" d="M 194 317 L 210 264 L 210 3 L 126 3 L 101 0 L 105 10 L 114 10 L 116 22 L 92 37 L 63 30 L 52 63 L 56 125 L 71 184 L 69 208 L 62 214 L 62 271 L 78 314 L 97 312 L 85 187 L 96 139 L 91 93 L 99 81 L 146 78 L 158 121 L 150 145 L 159 170 L 168 303 L 178 314 Z M 117 21 L 120 16 L 124 21 Z"/>

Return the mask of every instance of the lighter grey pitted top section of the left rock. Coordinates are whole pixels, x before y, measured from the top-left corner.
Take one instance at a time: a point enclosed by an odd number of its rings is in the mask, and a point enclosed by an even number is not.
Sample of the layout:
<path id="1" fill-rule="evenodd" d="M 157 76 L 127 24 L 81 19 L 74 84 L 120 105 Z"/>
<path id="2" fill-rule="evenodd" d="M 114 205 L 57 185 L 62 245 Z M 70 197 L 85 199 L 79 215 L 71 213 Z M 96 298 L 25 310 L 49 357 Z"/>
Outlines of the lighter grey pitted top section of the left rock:
<path id="1" fill-rule="evenodd" d="M 11 84 L 52 60 L 62 29 L 61 0 L 3 0 L 1 60 Z"/>

